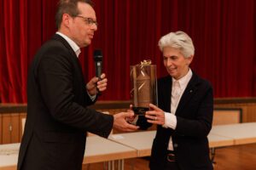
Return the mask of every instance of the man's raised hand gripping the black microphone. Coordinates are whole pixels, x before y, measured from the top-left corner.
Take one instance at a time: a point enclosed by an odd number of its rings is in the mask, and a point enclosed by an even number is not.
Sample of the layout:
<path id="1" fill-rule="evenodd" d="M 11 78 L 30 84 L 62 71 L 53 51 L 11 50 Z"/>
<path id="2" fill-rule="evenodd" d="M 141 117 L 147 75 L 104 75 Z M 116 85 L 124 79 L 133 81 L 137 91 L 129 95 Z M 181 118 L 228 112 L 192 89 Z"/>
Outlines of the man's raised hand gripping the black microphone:
<path id="1" fill-rule="evenodd" d="M 100 92 L 103 92 L 107 89 L 107 82 L 108 79 L 106 78 L 106 75 L 104 73 L 101 75 L 101 80 L 99 80 L 98 77 L 93 77 L 92 79 L 90 79 L 90 82 L 86 84 L 87 92 L 91 96 L 97 94 L 97 89 L 99 89 Z"/>

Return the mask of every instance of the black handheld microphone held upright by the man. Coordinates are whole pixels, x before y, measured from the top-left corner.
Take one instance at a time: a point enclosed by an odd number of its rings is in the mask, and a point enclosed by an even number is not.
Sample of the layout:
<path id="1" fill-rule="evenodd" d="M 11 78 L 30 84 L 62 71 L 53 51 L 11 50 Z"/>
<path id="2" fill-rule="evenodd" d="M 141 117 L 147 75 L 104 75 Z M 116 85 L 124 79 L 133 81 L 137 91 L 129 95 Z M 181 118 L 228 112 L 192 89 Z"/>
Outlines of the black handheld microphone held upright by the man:
<path id="1" fill-rule="evenodd" d="M 93 59 L 95 63 L 95 68 L 96 68 L 96 77 L 101 80 L 101 75 L 102 75 L 102 50 L 96 49 L 93 53 Z M 101 92 L 98 90 L 98 94 L 101 95 Z"/>

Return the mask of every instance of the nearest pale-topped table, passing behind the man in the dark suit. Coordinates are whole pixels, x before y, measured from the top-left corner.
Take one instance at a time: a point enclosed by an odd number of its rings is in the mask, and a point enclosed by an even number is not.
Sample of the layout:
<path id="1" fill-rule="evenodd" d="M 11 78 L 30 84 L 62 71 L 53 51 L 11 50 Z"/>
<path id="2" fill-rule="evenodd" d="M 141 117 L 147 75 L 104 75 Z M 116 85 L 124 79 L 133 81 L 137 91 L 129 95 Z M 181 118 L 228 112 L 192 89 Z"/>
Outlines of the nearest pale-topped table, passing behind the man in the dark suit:
<path id="1" fill-rule="evenodd" d="M 17 168 L 19 149 L 20 143 L 0 144 L 0 170 L 15 170 Z M 137 150 L 135 149 L 99 136 L 91 136 L 86 141 L 83 164 L 124 160 L 136 156 Z M 123 169 L 124 162 L 120 161 L 120 163 L 119 168 Z M 113 166 L 111 168 L 113 169 Z"/>

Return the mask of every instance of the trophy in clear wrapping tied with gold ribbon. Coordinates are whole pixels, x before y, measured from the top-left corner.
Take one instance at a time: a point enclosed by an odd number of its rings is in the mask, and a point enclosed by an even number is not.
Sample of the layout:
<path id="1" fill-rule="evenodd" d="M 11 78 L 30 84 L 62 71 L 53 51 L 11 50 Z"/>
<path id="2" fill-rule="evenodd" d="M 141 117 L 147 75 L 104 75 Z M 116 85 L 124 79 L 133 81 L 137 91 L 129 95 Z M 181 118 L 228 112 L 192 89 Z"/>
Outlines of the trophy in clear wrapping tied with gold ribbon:
<path id="1" fill-rule="evenodd" d="M 132 110 L 138 116 L 149 111 L 149 104 L 157 105 L 156 65 L 143 60 L 140 65 L 130 66 Z"/>

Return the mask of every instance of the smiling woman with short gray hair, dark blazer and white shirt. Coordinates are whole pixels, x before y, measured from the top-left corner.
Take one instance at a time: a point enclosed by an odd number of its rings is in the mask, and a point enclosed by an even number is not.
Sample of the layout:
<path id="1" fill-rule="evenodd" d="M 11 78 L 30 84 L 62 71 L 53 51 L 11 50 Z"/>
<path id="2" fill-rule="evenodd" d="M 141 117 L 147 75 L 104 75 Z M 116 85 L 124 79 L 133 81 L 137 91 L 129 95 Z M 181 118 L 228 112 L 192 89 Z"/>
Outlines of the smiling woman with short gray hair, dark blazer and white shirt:
<path id="1" fill-rule="evenodd" d="M 207 135 L 212 128 L 212 86 L 191 71 L 195 48 L 191 38 L 176 31 L 160 38 L 160 51 L 169 76 L 158 80 L 158 104 L 149 105 L 147 128 L 157 124 L 150 169 L 212 169 Z M 140 116 L 141 117 L 141 116 Z"/>

